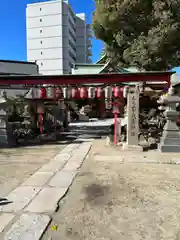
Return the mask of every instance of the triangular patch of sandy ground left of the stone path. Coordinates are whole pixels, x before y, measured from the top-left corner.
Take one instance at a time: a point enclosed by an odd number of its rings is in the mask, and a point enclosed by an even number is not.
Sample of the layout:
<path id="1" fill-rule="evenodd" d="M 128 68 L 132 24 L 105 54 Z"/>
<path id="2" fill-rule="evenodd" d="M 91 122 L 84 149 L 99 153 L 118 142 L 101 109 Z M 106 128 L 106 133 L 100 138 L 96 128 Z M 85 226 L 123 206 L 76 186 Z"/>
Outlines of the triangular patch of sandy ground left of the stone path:
<path id="1" fill-rule="evenodd" d="M 65 145 L 43 145 L 0 150 L 0 197 L 29 178 Z"/>

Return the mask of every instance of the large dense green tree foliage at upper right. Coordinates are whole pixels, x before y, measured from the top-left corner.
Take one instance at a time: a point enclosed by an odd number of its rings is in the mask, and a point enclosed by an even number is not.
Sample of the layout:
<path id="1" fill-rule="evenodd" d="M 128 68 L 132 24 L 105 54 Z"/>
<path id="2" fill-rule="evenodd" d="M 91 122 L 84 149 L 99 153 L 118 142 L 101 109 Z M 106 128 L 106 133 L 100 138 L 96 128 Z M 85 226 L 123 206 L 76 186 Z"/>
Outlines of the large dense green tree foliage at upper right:
<path id="1" fill-rule="evenodd" d="M 122 67 L 167 70 L 180 63 L 180 0 L 95 0 L 95 36 Z"/>

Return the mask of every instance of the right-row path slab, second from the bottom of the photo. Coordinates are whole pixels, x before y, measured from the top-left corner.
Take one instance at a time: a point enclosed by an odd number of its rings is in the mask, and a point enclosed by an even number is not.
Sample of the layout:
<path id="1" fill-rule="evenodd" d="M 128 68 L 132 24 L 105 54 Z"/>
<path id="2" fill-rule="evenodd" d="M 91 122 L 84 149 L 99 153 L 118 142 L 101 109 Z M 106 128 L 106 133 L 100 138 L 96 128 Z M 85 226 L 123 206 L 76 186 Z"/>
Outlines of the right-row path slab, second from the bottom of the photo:
<path id="1" fill-rule="evenodd" d="M 43 188 L 25 211 L 32 213 L 53 213 L 56 211 L 58 202 L 65 195 L 67 188 Z"/>

